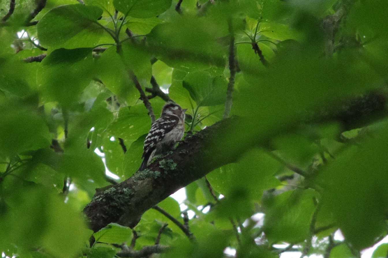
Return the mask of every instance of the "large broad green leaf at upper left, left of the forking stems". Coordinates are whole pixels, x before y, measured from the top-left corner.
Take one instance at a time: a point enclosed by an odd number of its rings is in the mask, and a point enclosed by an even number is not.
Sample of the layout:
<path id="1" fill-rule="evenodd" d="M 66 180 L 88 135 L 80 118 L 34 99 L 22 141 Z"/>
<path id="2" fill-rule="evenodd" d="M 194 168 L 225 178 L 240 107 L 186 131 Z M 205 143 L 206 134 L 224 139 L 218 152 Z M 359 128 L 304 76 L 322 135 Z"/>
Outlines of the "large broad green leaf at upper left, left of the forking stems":
<path id="1" fill-rule="evenodd" d="M 85 48 L 97 44 L 104 29 L 97 24 L 102 10 L 82 4 L 51 9 L 39 21 L 40 44 L 50 48 Z"/>

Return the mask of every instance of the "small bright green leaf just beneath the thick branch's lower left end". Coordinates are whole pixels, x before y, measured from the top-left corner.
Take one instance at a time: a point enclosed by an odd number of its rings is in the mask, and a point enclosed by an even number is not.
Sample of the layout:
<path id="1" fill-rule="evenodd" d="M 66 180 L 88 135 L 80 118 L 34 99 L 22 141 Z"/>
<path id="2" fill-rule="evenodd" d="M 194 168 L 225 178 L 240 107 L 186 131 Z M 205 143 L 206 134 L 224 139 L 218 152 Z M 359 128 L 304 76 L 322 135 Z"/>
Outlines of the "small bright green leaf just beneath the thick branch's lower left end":
<path id="1" fill-rule="evenodd" d="M 93 234 L 96 242 L 108 244 L 122 244 L 129 241 L 132 237 L 132 229 L 116 223 L 110 223 L 108 226 L 100 229 Z"/>

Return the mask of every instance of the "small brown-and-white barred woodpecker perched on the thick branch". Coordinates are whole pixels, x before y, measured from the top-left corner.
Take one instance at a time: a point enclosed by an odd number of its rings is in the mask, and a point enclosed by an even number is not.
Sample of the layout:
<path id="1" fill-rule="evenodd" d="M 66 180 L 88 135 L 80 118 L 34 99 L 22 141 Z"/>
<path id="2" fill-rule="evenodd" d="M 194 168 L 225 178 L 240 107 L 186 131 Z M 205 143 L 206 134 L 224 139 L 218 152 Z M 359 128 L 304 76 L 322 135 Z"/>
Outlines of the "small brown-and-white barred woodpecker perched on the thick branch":
<path id="1" fill-rule="evenodd" d="M 162 114 L 144 140 L 144 158 L 139 170 L 144 170 L 155 155 L 171 150 L 185 132 L 185 112 L 178 104 L 168 102 Z"/>

